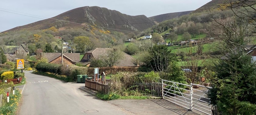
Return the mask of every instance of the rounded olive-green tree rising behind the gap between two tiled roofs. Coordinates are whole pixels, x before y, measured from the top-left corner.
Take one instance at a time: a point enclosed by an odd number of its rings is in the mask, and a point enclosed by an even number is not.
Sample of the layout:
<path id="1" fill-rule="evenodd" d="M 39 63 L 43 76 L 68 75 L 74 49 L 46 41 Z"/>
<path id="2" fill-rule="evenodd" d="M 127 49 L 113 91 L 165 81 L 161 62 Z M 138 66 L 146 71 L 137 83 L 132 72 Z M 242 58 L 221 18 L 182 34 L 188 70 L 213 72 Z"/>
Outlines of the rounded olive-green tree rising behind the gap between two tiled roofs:
<path id="1" fill-rule="evenodd" d="M 76 49 L 79 50 L 80 53 L 84 53 L 84 50 L 90 47 L 91 41 L 89 37 L 78 36 L 74 38 L 74 44 L 76 44 Z"/>

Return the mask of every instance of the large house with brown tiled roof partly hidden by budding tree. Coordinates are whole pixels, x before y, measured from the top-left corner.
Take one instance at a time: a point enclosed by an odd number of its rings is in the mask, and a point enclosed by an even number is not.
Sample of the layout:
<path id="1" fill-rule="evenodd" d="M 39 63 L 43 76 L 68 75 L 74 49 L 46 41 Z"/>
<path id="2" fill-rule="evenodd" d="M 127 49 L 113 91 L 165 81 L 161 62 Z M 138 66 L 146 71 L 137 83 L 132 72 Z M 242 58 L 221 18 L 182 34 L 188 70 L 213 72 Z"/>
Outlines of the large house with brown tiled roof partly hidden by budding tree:
<path id="1" fill-rule="evenodd" d="M 103 54 L 106 54 L 109 49 L 111 49 L 111 48 L 95 48 L 93 50 L 87 51 L 84 54 L 84 57 L 82 58 L 82 60 L 77 63 L 90 66 L 89 64 L 91 63 L 90 62 L 91 58 L 98 59 Z M 123 53 L 124 57 L 123 57 L 123 59 L 121 59 L 121 61 L 118 64 L 116 64 L 116 66 L 118 66 L 118 67 L 138 67 L 137 60 L 135 58 L 133 58 L 132 56 L 130 56 L 129 54 L 126 54 L 124 52 L 122 52 L 122 53 Z"/>

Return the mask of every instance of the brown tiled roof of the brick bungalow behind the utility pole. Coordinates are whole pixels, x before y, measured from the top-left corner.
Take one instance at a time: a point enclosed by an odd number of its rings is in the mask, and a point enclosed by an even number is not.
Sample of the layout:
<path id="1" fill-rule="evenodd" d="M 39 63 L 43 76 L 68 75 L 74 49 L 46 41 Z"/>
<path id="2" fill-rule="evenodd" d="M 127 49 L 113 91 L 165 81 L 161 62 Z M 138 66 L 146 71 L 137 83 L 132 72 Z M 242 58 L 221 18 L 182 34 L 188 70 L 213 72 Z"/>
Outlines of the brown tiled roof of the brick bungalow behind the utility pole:
<path id="1" fill-rule="evenodd" d="M 53 61 L 54 59 L 61 56 L 61 53 L 42 53 L 43 57 L 48 59 L 48 62 Z M 70 61 L 79 61 L 80 54 L 79 53 L 63 53 L 63 57 L 67 57 Z"/>

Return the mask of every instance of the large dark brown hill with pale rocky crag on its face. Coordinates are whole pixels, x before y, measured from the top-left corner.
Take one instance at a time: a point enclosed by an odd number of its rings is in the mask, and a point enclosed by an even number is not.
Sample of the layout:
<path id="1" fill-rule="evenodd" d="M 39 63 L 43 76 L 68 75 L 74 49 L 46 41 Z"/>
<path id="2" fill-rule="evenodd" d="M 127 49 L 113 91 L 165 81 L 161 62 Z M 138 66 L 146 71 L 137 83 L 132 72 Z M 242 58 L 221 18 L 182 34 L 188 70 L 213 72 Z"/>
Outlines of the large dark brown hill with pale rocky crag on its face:
<path id="1" fill-rule="evenodd" d="M 85 6 L 69 10 L 50 19 L 37 21 L 24 26 L 18 26 L 7 31 L 23 29 L 47 29 L 52 26 L 57 28 L 87 27 L 87 24 L 120 30 L 142 31 L 155 25 L 155 23 L 151 22 L 152 20 L 148 19 L 144 15 L 130 16 L 116 10 L 109 10 L 107 8 L 101 8 L 98 6 Z"/>

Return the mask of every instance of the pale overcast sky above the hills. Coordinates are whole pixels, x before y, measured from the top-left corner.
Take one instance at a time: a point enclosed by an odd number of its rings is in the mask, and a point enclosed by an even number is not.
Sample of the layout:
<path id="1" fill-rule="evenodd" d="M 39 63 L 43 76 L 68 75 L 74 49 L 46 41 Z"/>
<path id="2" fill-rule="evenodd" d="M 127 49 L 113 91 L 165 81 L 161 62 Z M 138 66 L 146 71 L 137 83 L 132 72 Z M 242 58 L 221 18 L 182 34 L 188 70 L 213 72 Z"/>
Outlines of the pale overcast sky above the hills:
<path id="1" fill-rule="evenodd" d="M 151 17 L 165 13 L 196 10 L 210 1 L 211 0 L 1 0 L 0 31 L 48 19 L 83 6 L 99 6 L 117 10 L 131 16 L 145 15 Z"/>

